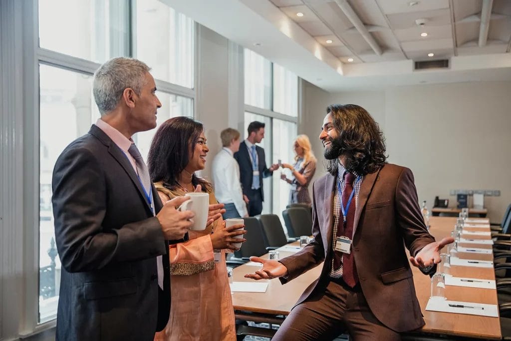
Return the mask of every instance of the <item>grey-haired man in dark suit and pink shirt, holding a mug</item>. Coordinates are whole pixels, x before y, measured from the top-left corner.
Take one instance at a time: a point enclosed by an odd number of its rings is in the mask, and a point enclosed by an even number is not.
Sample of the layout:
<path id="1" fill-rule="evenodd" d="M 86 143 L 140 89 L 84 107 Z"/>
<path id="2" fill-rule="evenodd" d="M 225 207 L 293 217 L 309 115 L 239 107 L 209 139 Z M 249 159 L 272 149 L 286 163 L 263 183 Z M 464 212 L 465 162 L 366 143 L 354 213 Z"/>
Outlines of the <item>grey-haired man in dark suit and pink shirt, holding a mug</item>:
<path id="1" fill-rule="evenodd" d="M 57 340 L 152 340 L 169 319 L 166 240 L 183 238 L 193 213 L 176 210 L 187 197 L 161 203 L 131 140 L 156 126 L 161 107 L 149 70 L 130 58 L 101 65 L 101 118 L 55 164 Z"/>

